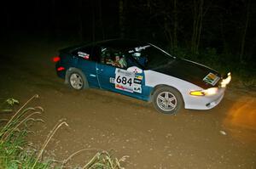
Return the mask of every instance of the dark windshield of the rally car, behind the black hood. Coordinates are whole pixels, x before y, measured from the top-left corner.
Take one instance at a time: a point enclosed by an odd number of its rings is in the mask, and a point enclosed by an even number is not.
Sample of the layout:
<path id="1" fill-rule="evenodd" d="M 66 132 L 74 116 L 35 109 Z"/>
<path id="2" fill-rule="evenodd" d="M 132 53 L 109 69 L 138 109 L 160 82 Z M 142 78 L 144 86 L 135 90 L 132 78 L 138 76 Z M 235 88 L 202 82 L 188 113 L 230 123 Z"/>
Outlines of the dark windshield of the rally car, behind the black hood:
<path id="1" fill-rule="evenodd" d="M 157 69 L 175 60 L 170 54 L 151 44 L 134 48 L 129 53 L 145 70 Z"/>

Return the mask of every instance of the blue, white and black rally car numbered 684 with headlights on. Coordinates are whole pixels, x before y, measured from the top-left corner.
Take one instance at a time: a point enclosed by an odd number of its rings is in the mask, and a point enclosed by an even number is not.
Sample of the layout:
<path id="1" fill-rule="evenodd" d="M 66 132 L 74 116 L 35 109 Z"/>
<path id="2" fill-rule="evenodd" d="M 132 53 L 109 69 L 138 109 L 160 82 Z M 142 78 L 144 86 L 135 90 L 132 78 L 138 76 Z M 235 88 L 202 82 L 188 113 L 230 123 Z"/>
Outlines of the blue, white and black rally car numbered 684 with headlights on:
<path id="1" fill-rule="evenodd" d="M 76 90 L 96 87 L 154 104 L 162 113 L 209 110 L 224 97 L 231 76 L 178 59 L 148 42 L 108 40 L 60 50 L 57 76 Z"/>

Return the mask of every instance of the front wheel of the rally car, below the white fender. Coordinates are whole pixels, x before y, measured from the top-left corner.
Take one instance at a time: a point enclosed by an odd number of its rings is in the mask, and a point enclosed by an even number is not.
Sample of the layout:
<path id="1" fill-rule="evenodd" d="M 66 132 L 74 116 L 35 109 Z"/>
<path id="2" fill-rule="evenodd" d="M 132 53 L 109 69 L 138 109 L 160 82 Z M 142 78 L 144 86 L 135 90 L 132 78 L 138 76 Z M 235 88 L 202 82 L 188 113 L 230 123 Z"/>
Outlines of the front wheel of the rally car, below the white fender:
<path id="1" fill-rule="evenodd" d="M 159 87 L 153 93 L 153 105 L 164 114 L 175 114 L 183 108 L 183 97 L 173 87 Z"/>

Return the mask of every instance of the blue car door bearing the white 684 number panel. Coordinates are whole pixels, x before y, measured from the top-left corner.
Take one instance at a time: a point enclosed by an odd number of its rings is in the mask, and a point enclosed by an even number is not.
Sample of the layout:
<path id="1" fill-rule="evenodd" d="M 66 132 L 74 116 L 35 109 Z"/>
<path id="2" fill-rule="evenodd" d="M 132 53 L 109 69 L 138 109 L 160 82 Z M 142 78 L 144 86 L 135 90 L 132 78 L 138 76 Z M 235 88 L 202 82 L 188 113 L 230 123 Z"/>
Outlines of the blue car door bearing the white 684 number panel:
<path id="1" fill-rule="evenodd" d="M 125 57 L 124 55 L 122 56 Z M 100 87 L 138 99 L 147 98 L 148 93 L 144 87 L 145 79 L 143 70 L 132 65 L 127 65 L 123 68 L 108 65 L 104 62 L 104 54 L 102 54 L 102 57 L 102 61 L 96 65 Z M 137 72 L 137 70 L 140 70 L 140 72 Z"/>

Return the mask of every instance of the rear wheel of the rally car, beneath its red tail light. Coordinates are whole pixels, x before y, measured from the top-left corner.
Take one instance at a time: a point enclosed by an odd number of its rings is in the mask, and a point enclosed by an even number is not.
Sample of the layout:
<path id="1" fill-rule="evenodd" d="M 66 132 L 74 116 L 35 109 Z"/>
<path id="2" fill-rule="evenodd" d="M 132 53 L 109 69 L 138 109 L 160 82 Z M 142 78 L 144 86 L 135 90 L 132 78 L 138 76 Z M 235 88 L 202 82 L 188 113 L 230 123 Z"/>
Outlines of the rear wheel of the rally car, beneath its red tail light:
<path id="1" fill-rule="evenodd" d="M 81 70 L 73 69 L 68 71 L 67 80 L 70 87 L 75 90 L 82 90 L 89 87 L 87 79 Z"/>

